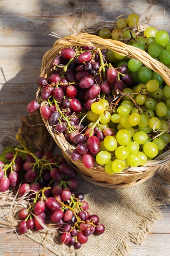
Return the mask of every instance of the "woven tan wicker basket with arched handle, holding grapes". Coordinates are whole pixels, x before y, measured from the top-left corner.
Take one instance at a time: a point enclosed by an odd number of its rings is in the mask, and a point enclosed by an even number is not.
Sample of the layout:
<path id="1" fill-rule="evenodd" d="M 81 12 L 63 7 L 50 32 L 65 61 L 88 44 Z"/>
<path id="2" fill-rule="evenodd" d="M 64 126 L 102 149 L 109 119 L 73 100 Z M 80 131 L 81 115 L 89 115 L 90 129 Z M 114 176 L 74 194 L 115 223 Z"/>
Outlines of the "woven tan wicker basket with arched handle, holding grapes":
<path id="1" fill-rule="evenodd" d="M 42 69 L 40 72 L 40 76 L 44 76 L 45 78 L 49 75 L 52 67 L 53 60 L 57 56 L 57 54 L 64 49 L 65 47 L 73 47 L 73 46 L 83 46 L 88 45 L 92 47 L 98 47 L 102 49 L 110 49 L 114 52 L 117 52 L 122 55 L 126 55 L 130 58 L 135 58 L 141 61 L 146 67 L 149 67 L 151 70 L 161 74 L 164 81 L 170 85 L 170 70 L 168 67 L 160 63 L 159 61 L 152 58 L 149 54 L 144 52 L 143 50 L 133 47 L 131 45 L 127 45 L 120 41 L 110 40 L 110 39 L 102 39 L 95 34 L 100 27 L 107 27 L 113 29 L 113 22 L 102 22 L 94 25 L 93 27 L 88 27 L 84 29 L 84 31 L 90 33 L 79 33 L 77 36 L 66 36 L 63 39 L 57 40 L 53 47 L 46 52 L 42 60 Z M 142 29 L 139 27 L 138 29 Z M 40 99 L 40 87 L 36 93 L 37 100 Z M 166 152 L 159 155 L 152 161 L 147 161 L 144 166 L 141 167 L 131 167 L 125 169 L 121 173 L 115 173 L 113 175 L 108 175 L 103 166 L 100 166 L 96 162 L 92 169 L 87 169 L 82 164 L 82 161 L 72 161 L 71 153 L 75 149 L 74 146 L 69 144 L 64 138 L 63 134 L 56 135 L 53 133 L 52 127 L 49 125 L 49 122 L 46 121 L 42 117 L 44 124 L 51 136 L 57 143 L 57 145 L 61 148 L 62 154 L 66 158 L 66 160 L 77 167 L 77 171 L 79 174 L 89 182 L 96 184 L 98 186 L 104 186 L 108 188 L 124 188 L 128 186 L 134 186 L 148 180 L 150 177 L 155 175 L 155 173 L 159 170 L 161 166 L 164 164 L 168 164 L 170 162 L 170 149 L 168 148 Z M 74 167 L 75 167 L 74 166 Z"/>

